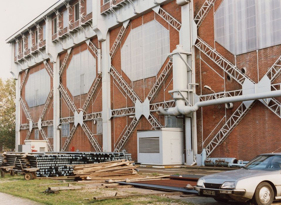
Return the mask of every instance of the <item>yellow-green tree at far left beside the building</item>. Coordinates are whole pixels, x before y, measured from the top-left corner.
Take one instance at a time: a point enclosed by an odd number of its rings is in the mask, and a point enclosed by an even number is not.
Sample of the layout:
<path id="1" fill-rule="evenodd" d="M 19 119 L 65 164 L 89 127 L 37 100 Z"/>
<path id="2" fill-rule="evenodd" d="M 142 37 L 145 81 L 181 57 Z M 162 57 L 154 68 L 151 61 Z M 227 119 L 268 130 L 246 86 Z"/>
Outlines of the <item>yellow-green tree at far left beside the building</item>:
<path id="1" fill-rule="evenodd" d="M 0 151 L 15 148 L 16 81 L 0 78 Z"/>

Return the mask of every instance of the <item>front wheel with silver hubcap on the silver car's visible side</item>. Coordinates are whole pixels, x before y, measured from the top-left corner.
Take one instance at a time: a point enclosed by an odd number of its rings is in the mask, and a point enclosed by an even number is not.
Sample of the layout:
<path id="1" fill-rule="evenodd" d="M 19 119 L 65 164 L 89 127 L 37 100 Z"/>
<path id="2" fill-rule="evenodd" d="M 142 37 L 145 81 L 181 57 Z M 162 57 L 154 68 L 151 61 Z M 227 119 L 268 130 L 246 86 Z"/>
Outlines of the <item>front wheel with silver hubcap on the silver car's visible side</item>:
<path id="1" fill-rule="evenodd" d="M 253 201 L 257 205 L 270 205 L 274 198 L 274 192 L 270 184 L 261 182 L 254 193 Z"/>

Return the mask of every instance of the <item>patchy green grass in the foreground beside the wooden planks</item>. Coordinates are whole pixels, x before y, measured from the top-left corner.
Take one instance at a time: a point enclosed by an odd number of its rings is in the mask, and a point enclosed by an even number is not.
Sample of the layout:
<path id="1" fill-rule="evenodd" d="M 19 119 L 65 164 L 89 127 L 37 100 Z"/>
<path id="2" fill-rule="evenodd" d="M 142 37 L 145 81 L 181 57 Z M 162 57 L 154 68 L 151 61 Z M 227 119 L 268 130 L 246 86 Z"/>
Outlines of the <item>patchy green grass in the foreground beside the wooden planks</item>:
<path id="1" fill-rule="evenodd" d="M 47 180 L 47 179 L 35 179 L 24 180 L 22 175 L 11 177 L 6 175 L 5 178 L 0 178 L 0 192 L 11 194 L 16 197 L 22 197 L 36 201 L 40 204 L 47 205 L 76 205 L 76 204 L 114 204 L 114 205 L 135 205 L 135 204 L 189 204 L 184 201 L 169 199 L 167 197 L 160 196 L 147 196 L 147 197 L 130 197 L 126 199 L 111 199 L 94 201 L 93 197 L 112 196 L 115 192 L 122 195 L 133 194 L 136 192 L 123 192 L 122 189 L 114 190 L 106 188 L 94 188 L 94 189 L 80 189 L 80 190 L 62 190 L 59 194 L 45 194 L 48 187 L 67 186 L 67 184 L 55 184 L 39 186 L 40 184 L 58 183 L 60 180 Z M 75 184 L 76 185 L 76 184 Z M 79 184 L 81 186 L 82 184 Z M 137 193 L 136 193 L 137 194 Z M 90 200 L 83 200 L 83 198 L 89 198 Z"/>

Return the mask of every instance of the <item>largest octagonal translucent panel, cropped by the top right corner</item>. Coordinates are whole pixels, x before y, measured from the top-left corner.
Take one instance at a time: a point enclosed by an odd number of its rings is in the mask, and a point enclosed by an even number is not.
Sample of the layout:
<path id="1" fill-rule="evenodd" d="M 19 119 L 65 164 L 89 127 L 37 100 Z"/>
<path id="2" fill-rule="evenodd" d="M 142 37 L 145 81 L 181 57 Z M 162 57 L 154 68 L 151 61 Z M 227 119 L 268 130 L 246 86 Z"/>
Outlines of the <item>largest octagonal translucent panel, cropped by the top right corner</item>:
<path id="1" fill-rule="evenodd" d="M 281 0 L 224 0 L 214 15 L 215 40 L 234 55 L 281 44 Z"/>

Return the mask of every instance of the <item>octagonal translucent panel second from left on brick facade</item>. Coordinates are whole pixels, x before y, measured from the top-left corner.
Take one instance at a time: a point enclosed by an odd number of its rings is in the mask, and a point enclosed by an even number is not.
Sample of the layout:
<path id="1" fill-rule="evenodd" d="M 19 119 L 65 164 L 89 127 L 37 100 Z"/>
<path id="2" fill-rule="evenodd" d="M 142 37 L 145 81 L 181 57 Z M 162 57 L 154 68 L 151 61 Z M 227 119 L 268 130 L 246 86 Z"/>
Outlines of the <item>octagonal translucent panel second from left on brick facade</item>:
<path id="1" fill-rule="evenodd" d="M 88 93 L 95 78 L 96 59 L 94 56 L 88 50 L 74 55 L 66 70 L 66 85 L 70 93 L 73 96 Z"/>

